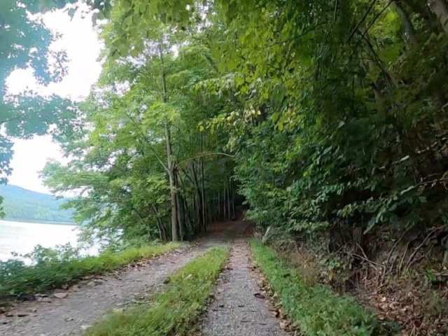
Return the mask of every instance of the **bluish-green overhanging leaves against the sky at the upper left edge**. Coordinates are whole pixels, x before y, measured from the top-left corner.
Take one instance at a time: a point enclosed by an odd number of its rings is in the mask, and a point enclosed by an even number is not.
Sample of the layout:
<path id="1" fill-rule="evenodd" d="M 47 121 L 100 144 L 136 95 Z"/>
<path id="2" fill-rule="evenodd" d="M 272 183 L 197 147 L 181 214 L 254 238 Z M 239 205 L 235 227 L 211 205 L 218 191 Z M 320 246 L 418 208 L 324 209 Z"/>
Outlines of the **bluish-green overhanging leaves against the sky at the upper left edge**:
<path id="1" fill-rule="evenodd" d="M 45 2 L 45 3 L 44 3 Z M 64 2 L 64 1 L 62 1 Z M 43 97 L 32 90 L 10 94 L 6 80 L 17 69 L 29 69 L 42 85 L 66 74 L 64 50 L 51 50 L 59 36 L 42 20 L 42 13 L 62 6 L 61 1 L 5 0 L 0 3 L 0 183 L 11 174 L 13 139 L 51 133 L 64 137 L 78 127 L 76 108 L 67 99 Z M 69 3 L 74 0 L 67 1 Z M 45 5 L 45 6 L 44 6 Z M 48 5 L 48 6 L 46 6 Z M 62 6 L 63 7 L 63 6 Z"/>

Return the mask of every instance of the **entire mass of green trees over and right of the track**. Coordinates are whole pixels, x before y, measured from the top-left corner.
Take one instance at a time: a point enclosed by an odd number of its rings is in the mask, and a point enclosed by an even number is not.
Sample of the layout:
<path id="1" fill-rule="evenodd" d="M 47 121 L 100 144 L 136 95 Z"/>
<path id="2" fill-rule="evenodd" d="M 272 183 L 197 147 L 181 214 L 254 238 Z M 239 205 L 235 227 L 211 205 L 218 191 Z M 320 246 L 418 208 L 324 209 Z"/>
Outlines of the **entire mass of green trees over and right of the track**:
<path id="1" fill-rule="evenodd" d="M 185 239 L 245 200 L 297 235 L 446 224 L 445 0 L 91 5 L 89 127 L 43 172 L 84 191 L 78 221 Z"/>

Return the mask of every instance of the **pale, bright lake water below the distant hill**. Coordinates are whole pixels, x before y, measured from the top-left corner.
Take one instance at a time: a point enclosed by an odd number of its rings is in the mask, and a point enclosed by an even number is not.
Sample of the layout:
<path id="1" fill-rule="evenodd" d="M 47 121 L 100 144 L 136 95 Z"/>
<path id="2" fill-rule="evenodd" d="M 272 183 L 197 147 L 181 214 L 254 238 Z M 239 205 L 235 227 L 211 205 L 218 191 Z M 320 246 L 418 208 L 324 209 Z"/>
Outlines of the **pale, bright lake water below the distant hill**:
<path id="1" fill-rule="evenodd" d="M 29 253 L 34 246 L 55 247 L 70 243 L 76 246 L 75 225 L 37 224 L 0 221 L 0 260 L 12 258 L 11 252 Z"/>

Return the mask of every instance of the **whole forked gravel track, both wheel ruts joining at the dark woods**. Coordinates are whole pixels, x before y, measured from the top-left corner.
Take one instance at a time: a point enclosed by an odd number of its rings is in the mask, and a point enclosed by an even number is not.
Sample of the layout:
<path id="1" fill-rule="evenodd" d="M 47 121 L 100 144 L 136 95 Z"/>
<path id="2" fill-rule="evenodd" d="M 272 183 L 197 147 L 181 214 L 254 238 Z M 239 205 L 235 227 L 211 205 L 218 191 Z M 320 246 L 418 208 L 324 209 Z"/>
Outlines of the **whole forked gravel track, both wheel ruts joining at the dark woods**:
<path id="1" fill-rule="evenodd" d="M 283 335 L 276 318 L 269 314 L 267 300 L 258 293 L 258 275 L 253 272 L 246 232 L 251 225 L 232 221 L 215 225 L 188 248 L 167 253 L 120 272 L 80 281 L 67 290 L 21 302 L 0 315 L 3 336 L 83 335 L 109 311 L 123 311 L 162 289 L 170 274 L 213 246 L 229 244 L 231 257 L 221 275 L 202 333 L 212 335 Z"/>

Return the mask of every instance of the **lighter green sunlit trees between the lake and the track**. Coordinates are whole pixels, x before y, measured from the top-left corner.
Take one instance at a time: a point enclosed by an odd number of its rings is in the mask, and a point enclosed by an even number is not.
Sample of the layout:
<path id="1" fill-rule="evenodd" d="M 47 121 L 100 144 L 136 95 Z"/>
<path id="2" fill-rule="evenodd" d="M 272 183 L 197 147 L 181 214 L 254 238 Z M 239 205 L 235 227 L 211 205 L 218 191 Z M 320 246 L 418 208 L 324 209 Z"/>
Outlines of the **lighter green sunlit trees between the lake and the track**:
<path id="1" fill-rule="evenodd" d="M 106 43 L 114 29 L 113 21 L 102 27 Z M 235 212 L 230 155 L 199 125 L 222 106 L 196 90 L 216 75 L 207 48 L 189 41 L 194 32 L 159 25 L 151 34 L 144 52 L 105 58 L 97 87 L 80 106 L 89 130 L 62 143 L 73 160 L 49 162 L 42 172 L 55 193 L 79 194 L 66 207 L 86 235 L 186 239 L 206 230 L 219 207 L 226 208 L 221 216 Z"/>

